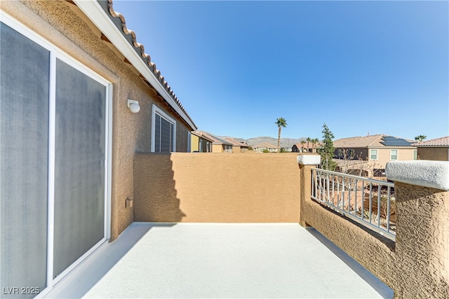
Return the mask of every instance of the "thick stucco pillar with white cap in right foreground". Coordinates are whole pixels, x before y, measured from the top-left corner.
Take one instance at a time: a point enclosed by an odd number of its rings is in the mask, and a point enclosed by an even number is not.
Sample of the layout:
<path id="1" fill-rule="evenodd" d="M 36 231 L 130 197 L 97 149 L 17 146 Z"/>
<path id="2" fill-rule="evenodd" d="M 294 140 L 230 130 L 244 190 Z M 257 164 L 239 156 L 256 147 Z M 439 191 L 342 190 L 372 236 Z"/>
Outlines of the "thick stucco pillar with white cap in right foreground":
<path id="1" fill-rule="evenodd" d="M 449 298 L 449 162 L 390 162 L 396 193 L 396 298 Z"/>

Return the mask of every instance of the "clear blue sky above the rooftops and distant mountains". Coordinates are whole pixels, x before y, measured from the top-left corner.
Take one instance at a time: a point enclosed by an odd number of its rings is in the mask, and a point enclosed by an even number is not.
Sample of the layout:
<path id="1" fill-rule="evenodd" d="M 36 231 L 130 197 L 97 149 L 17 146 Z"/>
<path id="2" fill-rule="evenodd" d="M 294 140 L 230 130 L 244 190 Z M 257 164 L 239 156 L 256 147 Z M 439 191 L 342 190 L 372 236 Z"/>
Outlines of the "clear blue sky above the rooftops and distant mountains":
<path id="1" fill-rule="evenodd" d="M 449 135 L 448 1 L 113 4 L 200 130 Z"/>

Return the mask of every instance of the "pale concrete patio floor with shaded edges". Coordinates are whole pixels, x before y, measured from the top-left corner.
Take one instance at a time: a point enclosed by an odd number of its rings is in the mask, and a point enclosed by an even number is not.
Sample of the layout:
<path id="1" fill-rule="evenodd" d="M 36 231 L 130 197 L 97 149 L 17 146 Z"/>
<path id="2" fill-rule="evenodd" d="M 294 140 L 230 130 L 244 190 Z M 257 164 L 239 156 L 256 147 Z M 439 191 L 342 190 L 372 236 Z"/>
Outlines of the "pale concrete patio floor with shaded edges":
<path id="1" fill-rule="evenodd" d="M 295 223 L 133 223 L 46 298 L 392 298 Z"/>

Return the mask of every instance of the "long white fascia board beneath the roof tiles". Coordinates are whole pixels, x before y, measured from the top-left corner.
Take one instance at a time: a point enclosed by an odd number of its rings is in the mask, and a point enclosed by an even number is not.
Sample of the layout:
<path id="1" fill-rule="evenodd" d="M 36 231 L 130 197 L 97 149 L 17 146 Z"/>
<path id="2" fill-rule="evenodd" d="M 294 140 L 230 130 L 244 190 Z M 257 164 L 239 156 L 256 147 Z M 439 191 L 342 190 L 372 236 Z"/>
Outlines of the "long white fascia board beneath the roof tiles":
<path id="1" fill-rule="evenodd" d="M 96 0 L 74 0 L 76 6 L 93 22 L 93 24 L 100 29 L 102 34 L 105 34 L 107 39 L 120 51 L 126 59 L 133 64 L 133 67 L 139 71 L 140 74 L 162 95 L 170 106 L 175 109 L 177 113 L 188 123 L 194 130 L 197 129 L 196 125 L 189 119 L 180 106 L 177 106 L 176 102 L 172 99 L 170 94 L 161 85 L 161 82 L 154 76 L 152 71 L 148 68 L 147 64 L 143 62 L 142 58 L 135 52 L 133 46 L 128 43 L 125 37 L 121 34 L 120 30 L 114 25 L 114 22 L 106 15 L 102 7 Z"/>

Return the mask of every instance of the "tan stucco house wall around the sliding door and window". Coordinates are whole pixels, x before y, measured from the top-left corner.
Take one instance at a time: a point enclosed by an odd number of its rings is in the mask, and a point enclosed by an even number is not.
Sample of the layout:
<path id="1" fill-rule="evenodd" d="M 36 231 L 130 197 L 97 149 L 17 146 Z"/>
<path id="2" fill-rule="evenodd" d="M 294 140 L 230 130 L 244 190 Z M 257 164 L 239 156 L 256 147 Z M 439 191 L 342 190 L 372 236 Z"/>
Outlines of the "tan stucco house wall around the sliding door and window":
<path id="1" fill-rule="evenodd" d="M 134 153 L 151 148 L 152 104 L 177 121 L 178 151 L 187 151 L 187 125 L 138 78 L 130 64 L 123 62 L 124 57 L 111 43 L 100 39 L 101 32 L 73 4 L 67 1 L 1 1 L 0 5 L 2 11 L 113 85 L 111 239 L 114 239 L 134 219 L 133 208 L 126 209 L 126 198 L 133 197 Z M 129 111 L 127 99 L 139 101 L 139 113 Z"/>

